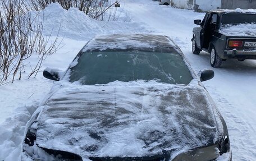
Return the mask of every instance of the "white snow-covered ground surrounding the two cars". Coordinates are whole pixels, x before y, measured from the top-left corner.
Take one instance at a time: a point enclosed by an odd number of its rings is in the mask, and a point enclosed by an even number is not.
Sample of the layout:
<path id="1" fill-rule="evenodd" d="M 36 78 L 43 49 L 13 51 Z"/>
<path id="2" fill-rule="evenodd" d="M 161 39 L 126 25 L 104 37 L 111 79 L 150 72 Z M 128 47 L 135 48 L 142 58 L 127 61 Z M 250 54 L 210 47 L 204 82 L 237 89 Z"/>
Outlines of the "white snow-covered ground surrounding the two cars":
<path id="1" fill-rule="evenodd" d="M 48 29 L 45 34 L 53 28 L 58 29 L 61 24 L 63 47 L 45 60 L 42 70 L 45 67 L 65 70 L 90 38 L 96 34 L 108 33 L 154 33 L 170 36 L 195 71 L 211 68 L 209 54 L 201 53 L 197 56 L 191 52 L 193 20 L 202 19 L 203 13 L 159 6 L 156 1 L 122 0 L 121 7 L 124 7 L 124 12 L 129 13 L 131 22 L 97 22 L 81 16 L 75 9 L 65 11 L 56 5 L 51 7 L 44 13 L 44 17 L 48 16 L 48 21 L 44 21 Z M 30 58 L 31 63 L 35 60 L 36 56 Z M 256 61 L 227 60 L 221 68 L 213 70 L 216 76 L 204 82 L 204 85 L 226 120 L 233 159 L 255 160 Z M 35 79 L 29 80 L 25 78 L 25 74 L 22 80 L 14 84 L 0 86 L 0 160 L 17 160 L 26 122 L 53 84 L 53 81 L 43 78 L 42 72 Z"/>

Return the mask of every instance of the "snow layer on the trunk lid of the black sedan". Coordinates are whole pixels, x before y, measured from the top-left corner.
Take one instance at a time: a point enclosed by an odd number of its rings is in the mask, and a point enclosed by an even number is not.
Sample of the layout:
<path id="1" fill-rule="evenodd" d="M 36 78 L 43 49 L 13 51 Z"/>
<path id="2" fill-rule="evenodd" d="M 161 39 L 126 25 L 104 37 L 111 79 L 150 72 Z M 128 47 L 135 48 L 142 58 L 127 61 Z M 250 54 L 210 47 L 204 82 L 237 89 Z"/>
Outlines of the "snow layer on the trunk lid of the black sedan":
<path id="1" fill-rule="evenodd" d="M 222 27 L 221 34 L 228 36 L 256 36 L 256 24 L 239 24 Z"/>

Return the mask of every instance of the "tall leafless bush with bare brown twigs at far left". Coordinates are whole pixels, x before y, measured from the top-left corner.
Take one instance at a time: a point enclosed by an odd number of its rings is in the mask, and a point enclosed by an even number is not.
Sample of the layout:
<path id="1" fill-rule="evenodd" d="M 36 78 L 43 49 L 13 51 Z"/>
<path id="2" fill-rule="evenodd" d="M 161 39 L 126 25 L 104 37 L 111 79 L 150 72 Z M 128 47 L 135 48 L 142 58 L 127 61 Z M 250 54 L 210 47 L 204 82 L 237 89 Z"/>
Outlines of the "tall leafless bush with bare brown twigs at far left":
<path id="1" fill-rule="evenodd" d="M 31 15 L 25 2 L 26 0 L 0 2 L 0 84 L 10 77 L 12 82 L 21 79 L 24 60 L 32 54 L 38 54 L 39 61 L 29 77 L 36 75 L 43 58 L 58 49 L 57 38 L 53 42 L 44 38 L 42 22 L 38 20 L 38 15 Z"/>

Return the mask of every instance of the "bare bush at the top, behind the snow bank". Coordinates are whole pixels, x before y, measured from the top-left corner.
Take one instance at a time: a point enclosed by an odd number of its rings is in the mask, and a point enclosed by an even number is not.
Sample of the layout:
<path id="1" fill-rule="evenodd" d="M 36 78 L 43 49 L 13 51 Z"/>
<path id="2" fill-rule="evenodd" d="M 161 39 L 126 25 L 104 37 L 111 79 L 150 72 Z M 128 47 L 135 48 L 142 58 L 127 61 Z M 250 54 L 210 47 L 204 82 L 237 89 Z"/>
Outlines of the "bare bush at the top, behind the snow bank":
<path id="1" fill-rule="evenodd" d="M 55 2 L 60 3 L 65 10 L 75 7 L 93 19 L 102 20 L 104 13 L 117 1 L 109 4 L 108 0 L 29 0 L 30 6 L 36 11 L 44 10 L 48 4 Z"/>

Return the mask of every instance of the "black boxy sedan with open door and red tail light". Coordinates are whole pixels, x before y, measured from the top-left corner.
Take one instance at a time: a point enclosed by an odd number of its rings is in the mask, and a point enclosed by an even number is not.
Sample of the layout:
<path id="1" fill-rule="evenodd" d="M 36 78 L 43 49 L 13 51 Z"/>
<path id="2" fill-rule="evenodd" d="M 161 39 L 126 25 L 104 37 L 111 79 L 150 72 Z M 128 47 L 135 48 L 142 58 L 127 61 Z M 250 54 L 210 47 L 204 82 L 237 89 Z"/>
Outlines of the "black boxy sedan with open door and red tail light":
<path id="1" fill-rule="evenodd" d="M 211 53 L 212 67 L 220 67 L 223 60 L 235 58 L 256 59 L 255 29 L 246 25 L 255 25 L 256 13 L 250 10 L 211 10 L 203 21 L 195 20 L 193 29 L 193 53 L 201 50 Z M 245 28 L 239 27 L 244 25 Z"/>

